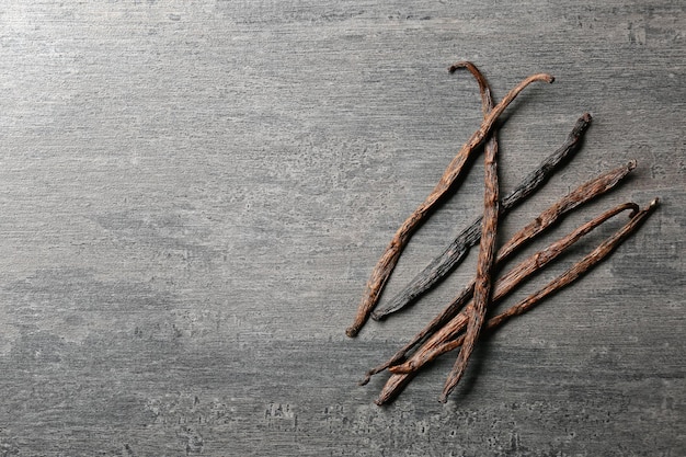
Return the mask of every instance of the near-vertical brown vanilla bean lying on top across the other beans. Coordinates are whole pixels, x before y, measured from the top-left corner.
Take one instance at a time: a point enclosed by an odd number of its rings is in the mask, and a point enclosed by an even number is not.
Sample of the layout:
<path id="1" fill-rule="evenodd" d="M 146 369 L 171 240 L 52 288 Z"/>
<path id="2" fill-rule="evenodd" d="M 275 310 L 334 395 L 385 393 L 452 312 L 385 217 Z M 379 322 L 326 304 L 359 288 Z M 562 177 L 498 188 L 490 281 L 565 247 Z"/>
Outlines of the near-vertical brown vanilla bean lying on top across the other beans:
<path id="1" fill-rule="evenodd" d="M 478 72 L 479 70 L 472 67 L 470 71 Z M 492 135 L 495 135 L 495 133 Z M 491 138 L 487 145 L 484 158 L 483 219 L 481 222 L 481 242 L 477 260 L 475 294 L 469 312 L 469 322 L 467 323 L 465 344 L 457 357 L 458 376 L 461 375 L 469 362 L 475 344 L 481 333 L 481 327 L 485 319 L 485 309 L 491 299 L 491 270 L 495 258 L 495 236 L 498 233 L 498 142 L 495 138 Z"/>

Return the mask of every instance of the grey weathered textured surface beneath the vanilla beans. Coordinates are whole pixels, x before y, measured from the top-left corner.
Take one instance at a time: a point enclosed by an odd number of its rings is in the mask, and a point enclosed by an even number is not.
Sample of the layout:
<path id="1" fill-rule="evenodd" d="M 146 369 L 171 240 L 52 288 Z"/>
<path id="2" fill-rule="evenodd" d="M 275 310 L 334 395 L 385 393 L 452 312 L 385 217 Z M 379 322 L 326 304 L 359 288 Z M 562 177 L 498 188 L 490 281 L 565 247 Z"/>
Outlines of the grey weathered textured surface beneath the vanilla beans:
<path id="1" fill-rule="evenodd" d="M 0 455 L 685 455 L 686 7 L 559 3 L 4 0 Z M 476 83 L 446 71 L 460 59 L 498 99 L 557 77 L 506 112 L 503 192 L 594 116 L 501 238 L 632 158 L 626 185 L 546 241 L 615 203 L 663 206 L 483 342 L 447 404 L 451 357 L 378 408 L 385 376 L 356 380 L 476 263 L 344 335 L 479 124 Z M 482 174 L 477 160 L 416 233 L 385 299 L 479 213 Z"/>

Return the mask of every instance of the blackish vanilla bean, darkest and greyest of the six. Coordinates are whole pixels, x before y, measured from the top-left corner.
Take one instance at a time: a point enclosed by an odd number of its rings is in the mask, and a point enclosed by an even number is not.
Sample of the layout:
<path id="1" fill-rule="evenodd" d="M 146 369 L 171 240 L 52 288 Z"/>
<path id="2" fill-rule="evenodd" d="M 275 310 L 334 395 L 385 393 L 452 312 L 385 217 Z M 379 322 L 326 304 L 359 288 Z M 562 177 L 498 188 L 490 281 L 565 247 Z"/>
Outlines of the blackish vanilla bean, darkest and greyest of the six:
<path id="1" fill-rule="evenodd" d="M 500 204 L 500 216 L 505 216 L 512 208 L 524 202 L 540 188 L 568 158 L 572 157 L 581 145 L 583 134 L 591 124 L 591 115 L 583 114 L 574 125 L 564 144 L 536 170 L 529 173 Z M 481 236 L 481 217 L 465 228 L 426 267 L 420 272 L 387 306 L 373 312 L 371 318 L 380 320 L 413 304 L 421 295 L 430 290 L 449 272 L 457 267 L 469 253 L 469 249 L 479 242 Z"/>

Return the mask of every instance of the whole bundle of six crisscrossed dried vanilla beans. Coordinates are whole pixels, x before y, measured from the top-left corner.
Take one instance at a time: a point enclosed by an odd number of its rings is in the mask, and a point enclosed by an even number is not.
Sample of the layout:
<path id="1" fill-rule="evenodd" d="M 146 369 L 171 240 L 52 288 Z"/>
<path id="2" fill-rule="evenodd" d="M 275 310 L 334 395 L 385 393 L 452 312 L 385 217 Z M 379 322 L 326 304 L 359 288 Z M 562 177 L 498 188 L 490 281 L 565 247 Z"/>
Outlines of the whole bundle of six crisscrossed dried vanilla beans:
<path id="1" fill-rule="evenodd" d="M 361 385 L 367 384 L 373 375 L 380 372 L 389 370 L 391 373 L 380 396 L 375 401 L 377 404 L 384 404 L 395 399 L 422 366 L 442 354 L 457 350 L 457 359 L 439 398 L 441 401 L 445 402 L 462 377 L 469 356 L 482 330 L 488 331 L 501 325 L 510 318 L 524 313 L 547 296 L 576 281 L 607 258 L 658 207 L 658 198 L 655 198 L 643 208 L 632 202 L 610 208 L 495 278 L 494 274 L 500 273 L 499 265 L 502 265 L 521 247 L 559 221 L 572 209 L 615 187 L 636 168 L 636 161 L 632 160 L 581 184 L 516 232 L 500 247 L 500 250 L 496 250 L 495 239 L 499 220 L 542 186 L 550 175 L 576 152 L 581 138 L 591 123 L 591 115 L 587 113 L 582 115 L 564 145 L 545 159 L 510 194 L 501 198 L 498 184 L 498 139 L 494 124 L 507 105 L 528 84 L 535 81 L 552 82 L 553 77 L 546 73 L 533 75 L 512 89 L 500 103 L 495 104 L 489 83 L 473 64 L 467 61 L 458 62 L 451 66 L 449 71 L 454 72 L 457 69 L 467 69 L 479 83 L 483 108 L 481 126 L 448 164 L 432 193 L 393 236 L 393 239 L 371 272 L 355 321 L 346 330 L 346 333 L 348 336 L 355 336 L 369 317 L 380 320 L 413 304 L 423 293 L 450 273 L 467 256 L 471 247 L 479 243 L 477 274 L 475 279 L 438 316 L 428 322 L 412 341 L 401 347 L 388 361 L 366 373 Z M 483 216 L 466 227 L 446 248 L 444 253 L 431 262 L 387 306 L 375 310 L 384 286 L 413 231 L 450 191 L 453 183 L 464 173 L 465 164 L 469 157 L 480 149 L 483 149 L 485 157 Z M 541 289 L 511 306 L 505 311 L 496 316 L 488 315 L 489 309 L 494 308 L 536 271 L 554 260 L 594 228 L 624 212 L 629 212 L 629 220 L 581 261 L 549 282 Z"/>

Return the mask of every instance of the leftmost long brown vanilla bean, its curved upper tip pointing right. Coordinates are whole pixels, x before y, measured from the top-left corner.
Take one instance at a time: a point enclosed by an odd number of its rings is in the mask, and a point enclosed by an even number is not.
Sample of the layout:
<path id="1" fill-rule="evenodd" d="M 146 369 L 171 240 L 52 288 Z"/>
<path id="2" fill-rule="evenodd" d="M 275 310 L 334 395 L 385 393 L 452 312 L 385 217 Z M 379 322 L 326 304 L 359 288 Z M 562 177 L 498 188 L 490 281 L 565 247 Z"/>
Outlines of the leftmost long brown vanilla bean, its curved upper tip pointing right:
<path id="1" fill-rule="evenodd" d="M 410 215 L 410 217 L 400 226 L 393 239 L 386 248 L 386 251 L 379 259 L 378 263 L 374 267 L 371 275 L 367 282 L 367 286 L 365 293 L 363 295 L 363 299 L 357 309 L 357 313 L 355 315 L 355 320 L 351 327 L 347 328 L 345 333 L 348 336 L 356 336 L 359 332 L 359 329 L 365 324 L 367 319 L 369 318 L 369 313 L 376 306 L 378 298 L 386 285 L 386 282 L 390 277 L 391 272 L 393 271 L 396 264 L 398 263 L 398 259 L 400 258 L 400 253 L 403 248 L 410 240 L 410 237 L 414 232 L 414 230 L 424 221 L 430 212 L 435 206 L 436 202 L 438 202 L 450 188 L 453 183 L 457 180 L 457 178 L 461 174 L 465 162 L 471 155 L 471 152 L 479 147 L 487 135 L 493 127 L 493 124 L 498 119 L 498 117 L 505 111 L 507 105 L 512 103 L 512 101 L 522 92 L 528 84 L 535 81 L 546 81 L 552 82 L 554 78 L 550 75 L 538 73 L 533 75 L 517 84 L 514 89 L 512 89 L 505 98 L 493 107 L 493 110 L 485 116 L 481 123 L 481 126 L 475 132 L 469 140 L 461 147 L 457 156 L 450 161 L 448 168 L 445 170 L 438 184 L 434 187 L 432 193 L 426 197 L 426 199 Z"/>

